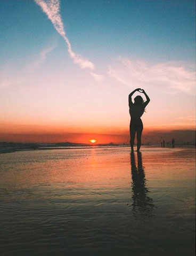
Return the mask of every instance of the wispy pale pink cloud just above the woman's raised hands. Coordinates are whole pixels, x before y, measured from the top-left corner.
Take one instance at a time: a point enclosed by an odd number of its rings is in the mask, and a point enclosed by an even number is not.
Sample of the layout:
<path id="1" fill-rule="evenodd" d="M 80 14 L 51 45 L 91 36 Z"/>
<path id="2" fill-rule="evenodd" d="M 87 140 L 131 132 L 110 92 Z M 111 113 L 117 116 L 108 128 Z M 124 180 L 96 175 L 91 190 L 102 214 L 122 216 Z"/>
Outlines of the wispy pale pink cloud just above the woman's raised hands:
<path id="1" fill-rule="evenodd" d="M 180 61 L 151 64 L 147 61 L 134 61 L 119 57 L 120 65 L 110 66 L 109 75 L 127 86 L 165 86 L 176 91 L 192 94 L 195 87 L 195 72 Z"/>

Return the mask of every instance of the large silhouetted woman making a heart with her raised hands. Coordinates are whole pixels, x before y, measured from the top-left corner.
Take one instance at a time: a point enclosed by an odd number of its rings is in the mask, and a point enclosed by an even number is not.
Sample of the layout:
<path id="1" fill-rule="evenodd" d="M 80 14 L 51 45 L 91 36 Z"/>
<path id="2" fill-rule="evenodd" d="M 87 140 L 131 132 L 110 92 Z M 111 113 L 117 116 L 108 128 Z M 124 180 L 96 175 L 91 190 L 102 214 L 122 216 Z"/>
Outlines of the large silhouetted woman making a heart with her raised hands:
<path id="1" fill-rule="evenodd" d="M 146 102 L 144 102 L 141 96 L 136 96 L 134 98 L 134 103 L 132 102 L 133 94 L 138 91 L 145 95 Z M 149 104 L 150 98 L 145 93 L 145 91 L 141 88 L 137 88 L 129 94 L 129 114 L 130 114 L 130 147 L 132 151 L 134 151 L 134 140 L 135 140 L 135 133 L 137 133 L 137 151 L 140 151 L 141 147 L 141 136 L 143 130 L 143 123 L 141 117 L 144 113 L 145 107 Z"/>

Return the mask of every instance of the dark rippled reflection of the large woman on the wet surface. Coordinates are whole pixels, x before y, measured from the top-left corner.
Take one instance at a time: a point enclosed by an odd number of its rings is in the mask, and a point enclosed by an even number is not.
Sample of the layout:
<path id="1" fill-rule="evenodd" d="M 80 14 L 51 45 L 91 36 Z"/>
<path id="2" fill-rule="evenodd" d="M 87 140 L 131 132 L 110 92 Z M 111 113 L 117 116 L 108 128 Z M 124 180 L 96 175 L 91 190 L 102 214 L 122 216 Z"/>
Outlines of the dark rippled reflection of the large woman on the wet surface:
<path id="1" fill-rule="evenodd" d="M 152 198 L 148 197 L 149 189 L 146 187 L 144 167 L 142 166 L 142 153 L 137 152 L 137 167 L 134 152 L 130 153 L 130 164 L 132 170 L 132 199 L 133 212 L 137 215 L 152 216 L 155 207 Z"/>

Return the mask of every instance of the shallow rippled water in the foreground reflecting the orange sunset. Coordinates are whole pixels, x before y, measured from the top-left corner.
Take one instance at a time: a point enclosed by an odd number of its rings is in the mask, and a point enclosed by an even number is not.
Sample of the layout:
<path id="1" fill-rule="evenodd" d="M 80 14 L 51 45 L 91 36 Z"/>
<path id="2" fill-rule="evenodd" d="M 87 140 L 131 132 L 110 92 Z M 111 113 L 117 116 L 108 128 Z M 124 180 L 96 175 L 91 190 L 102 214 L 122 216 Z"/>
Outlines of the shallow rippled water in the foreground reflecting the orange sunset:
<path id="1" fill-rule="evenodd" d="M 0 155 L 1 255 L 194 255 L 194 149 Z"/>

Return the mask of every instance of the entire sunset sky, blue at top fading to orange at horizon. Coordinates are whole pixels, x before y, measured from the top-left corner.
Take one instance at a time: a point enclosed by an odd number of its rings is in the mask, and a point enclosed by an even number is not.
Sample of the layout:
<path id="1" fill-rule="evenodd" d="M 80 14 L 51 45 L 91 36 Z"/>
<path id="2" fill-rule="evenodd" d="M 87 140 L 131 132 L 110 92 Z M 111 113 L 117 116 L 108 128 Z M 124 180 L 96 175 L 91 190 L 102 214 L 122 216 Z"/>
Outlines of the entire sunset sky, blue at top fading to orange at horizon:
<path id="1" fill-rule="evenodd" d="M 135 88 L 144 136 L 194 139 L 195 1 L 1 0 L 0 29 L 0 141 L 127 143 Z"/>

